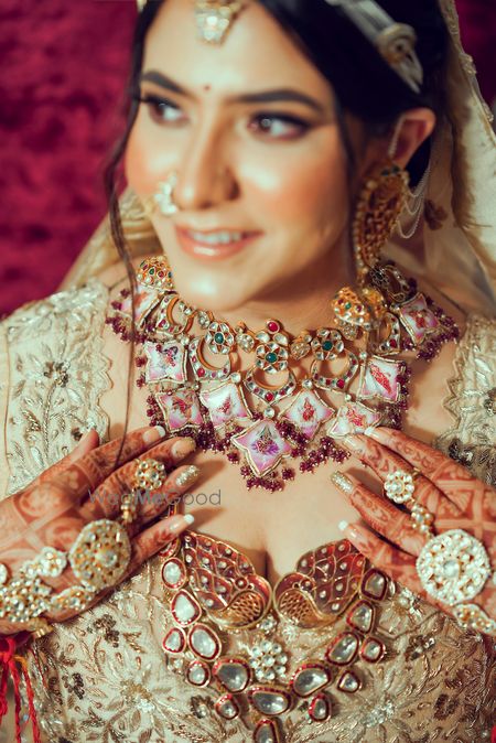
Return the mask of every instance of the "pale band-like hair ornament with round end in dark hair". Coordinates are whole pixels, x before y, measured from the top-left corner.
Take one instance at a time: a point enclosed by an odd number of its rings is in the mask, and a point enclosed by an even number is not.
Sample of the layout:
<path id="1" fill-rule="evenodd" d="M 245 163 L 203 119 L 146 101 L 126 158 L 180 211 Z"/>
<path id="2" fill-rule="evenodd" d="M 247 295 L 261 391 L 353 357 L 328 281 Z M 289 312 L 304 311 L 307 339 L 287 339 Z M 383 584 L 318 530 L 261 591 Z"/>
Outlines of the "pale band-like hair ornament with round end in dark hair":
<path id="1" fill-rule="evenodd" d="M 325 0 L 338 7 L 377 49 L 397 75 L 420 93 L 423 71 L 414 51 L 417 34 L 411 25 L 397 23 L 375 0 Z"/>

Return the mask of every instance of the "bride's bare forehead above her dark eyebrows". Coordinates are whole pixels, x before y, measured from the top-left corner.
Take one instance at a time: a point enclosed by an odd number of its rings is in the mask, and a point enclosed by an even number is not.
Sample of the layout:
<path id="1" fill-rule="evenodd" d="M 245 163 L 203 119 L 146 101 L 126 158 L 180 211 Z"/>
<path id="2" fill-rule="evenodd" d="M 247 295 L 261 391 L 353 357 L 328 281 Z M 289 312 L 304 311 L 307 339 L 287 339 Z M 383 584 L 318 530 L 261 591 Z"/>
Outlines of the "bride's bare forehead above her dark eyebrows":
<path id="1" fill-rule="evenodd" d="M 270 13 L 255 0 L 234 20 L 222 44 L 197 37 L 194 2 L 165 0 L 145 40 L 143 71 L 159 69 L 201 90 L 291 87 L 331 99 L 327 80 Z"/>

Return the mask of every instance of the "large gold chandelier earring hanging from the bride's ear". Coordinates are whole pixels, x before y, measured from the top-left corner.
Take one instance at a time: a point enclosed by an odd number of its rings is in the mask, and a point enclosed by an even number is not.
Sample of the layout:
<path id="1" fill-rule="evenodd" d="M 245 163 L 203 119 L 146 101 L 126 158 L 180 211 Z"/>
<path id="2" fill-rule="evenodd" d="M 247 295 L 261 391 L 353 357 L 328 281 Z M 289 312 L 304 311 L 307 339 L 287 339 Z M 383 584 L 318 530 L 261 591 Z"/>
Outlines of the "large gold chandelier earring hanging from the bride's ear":
<path id="1" fill-rule="evenodd" d="M 409 194 L 409 174 L 387 157 L 368 171 L 359 190 L 352 239 L 358 283 L 380 257 L 384 245 L 395 230 Z"/>

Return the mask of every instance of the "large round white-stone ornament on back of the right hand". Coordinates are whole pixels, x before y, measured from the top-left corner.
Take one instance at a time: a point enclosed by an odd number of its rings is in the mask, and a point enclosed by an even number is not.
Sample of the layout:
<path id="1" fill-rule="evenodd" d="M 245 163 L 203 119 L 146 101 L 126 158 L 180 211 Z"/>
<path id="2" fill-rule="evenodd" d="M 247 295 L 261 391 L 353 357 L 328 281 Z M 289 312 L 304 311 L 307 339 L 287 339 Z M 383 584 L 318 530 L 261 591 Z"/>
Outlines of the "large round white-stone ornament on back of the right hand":
<path id="1" fill-rule="evenodd" d="M 451 529 L 427 542 L 417 572 L 431 596 L 453 606 L 476 596 L 492 570 L 484 545 L 463 529 Z"/>

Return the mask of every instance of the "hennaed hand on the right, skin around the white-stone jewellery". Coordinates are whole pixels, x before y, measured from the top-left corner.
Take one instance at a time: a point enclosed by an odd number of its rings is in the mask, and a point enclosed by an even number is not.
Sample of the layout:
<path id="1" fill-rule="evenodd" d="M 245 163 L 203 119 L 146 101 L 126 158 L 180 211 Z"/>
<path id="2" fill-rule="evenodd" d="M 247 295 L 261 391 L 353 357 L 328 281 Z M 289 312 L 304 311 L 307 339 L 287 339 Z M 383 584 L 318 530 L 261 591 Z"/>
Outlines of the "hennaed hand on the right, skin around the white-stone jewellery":
<path id="1" fill-rule="evenodd" d="M 493 487 L 473 477 L 468 470 L 436 449 L 393 429 L 377 428 L 368 437 L 349 437 L 345 445 L 382 482 L 396 470 L 410 472 L 416 467 L 420 471 L 414 481 L 414 500 L 433 515 L 434 534 L 450 529 L 467 531 L 485 546 L 494 570 L 496 491 Z M 452 607 L 424 591 L 417 573 L 417 557 L 429 541 L 429 535 L 416 530 L 410 514 L 389 498 L 376 495 L 348 473 L 345 477 L 349 484 L 347 487 L 346 483 L 338 485 L 339 491 L 374 529 L 359 524 L 347 525 L 344 529 L 347 539 L 395 581 L 452 613 Z M 490 618 L 496 618 L 496 586 L 490 578 L 470 603 L 477 604 Z"/>

